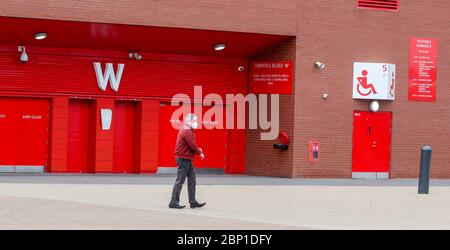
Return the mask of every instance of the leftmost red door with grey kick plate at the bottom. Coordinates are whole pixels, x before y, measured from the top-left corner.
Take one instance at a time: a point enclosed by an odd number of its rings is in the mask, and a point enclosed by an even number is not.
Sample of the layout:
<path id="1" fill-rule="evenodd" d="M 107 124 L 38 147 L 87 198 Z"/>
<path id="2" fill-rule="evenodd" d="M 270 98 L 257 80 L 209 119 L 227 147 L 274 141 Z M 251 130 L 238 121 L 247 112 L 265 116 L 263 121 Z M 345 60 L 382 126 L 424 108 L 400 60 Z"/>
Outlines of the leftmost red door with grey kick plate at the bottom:
<path id="1" fill-rule="evenodd" d="M 0 99 L 0 166 L 42 172 L 47 166 L 49 102 Z"/>

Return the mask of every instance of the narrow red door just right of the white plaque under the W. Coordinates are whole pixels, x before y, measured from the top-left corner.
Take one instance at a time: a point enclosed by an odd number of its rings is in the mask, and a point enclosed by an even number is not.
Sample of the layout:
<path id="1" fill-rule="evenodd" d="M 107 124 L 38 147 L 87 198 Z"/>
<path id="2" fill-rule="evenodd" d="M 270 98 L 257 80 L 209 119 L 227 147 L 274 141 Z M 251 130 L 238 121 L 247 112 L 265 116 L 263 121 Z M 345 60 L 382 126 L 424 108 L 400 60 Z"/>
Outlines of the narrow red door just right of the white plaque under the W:
<path id="1" fill-rule="evenodd" d="M 114 173 L 139 173 L 136 164 L 136 103 L 116 102 L 113 113 Z"/>

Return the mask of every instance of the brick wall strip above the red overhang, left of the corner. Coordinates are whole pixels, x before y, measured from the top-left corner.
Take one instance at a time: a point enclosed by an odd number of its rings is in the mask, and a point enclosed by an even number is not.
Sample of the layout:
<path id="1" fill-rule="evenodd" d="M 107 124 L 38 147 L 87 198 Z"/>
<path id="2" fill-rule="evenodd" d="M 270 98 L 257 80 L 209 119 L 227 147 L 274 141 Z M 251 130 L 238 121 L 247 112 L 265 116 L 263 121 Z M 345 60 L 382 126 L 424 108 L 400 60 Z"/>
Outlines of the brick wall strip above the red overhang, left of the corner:
<path id="1" fill-rule="evenodd" d="M 296 15 L 293 0 L 8 0 L 0 5 L 0 16 L 280 35 L 295 35 Z"/>

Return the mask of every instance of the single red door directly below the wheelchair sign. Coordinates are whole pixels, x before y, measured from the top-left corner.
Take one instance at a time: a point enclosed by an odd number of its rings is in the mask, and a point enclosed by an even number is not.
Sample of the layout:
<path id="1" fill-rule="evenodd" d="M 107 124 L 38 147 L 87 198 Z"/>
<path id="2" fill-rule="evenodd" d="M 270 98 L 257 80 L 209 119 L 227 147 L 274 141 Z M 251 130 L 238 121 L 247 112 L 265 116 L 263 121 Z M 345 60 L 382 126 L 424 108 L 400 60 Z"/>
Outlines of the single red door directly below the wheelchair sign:
<path id="1" fill-rule="evenodd" d="M 388 178 L 391 161 L 391 113 L 353 113 L 354 176 Z"/>

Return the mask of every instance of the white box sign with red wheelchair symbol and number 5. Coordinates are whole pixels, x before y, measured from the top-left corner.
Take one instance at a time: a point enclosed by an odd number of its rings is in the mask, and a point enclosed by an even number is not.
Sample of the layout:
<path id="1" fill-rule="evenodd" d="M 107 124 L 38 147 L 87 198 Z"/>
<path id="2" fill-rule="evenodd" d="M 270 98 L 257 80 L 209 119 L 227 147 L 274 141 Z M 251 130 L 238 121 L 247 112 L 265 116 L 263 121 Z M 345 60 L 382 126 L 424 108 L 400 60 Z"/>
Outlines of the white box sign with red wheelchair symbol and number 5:
<path id="1" fill-rule="evenodd" d="M 395 99 L 395 64 L 353 64 L 353 99 Z"/>

